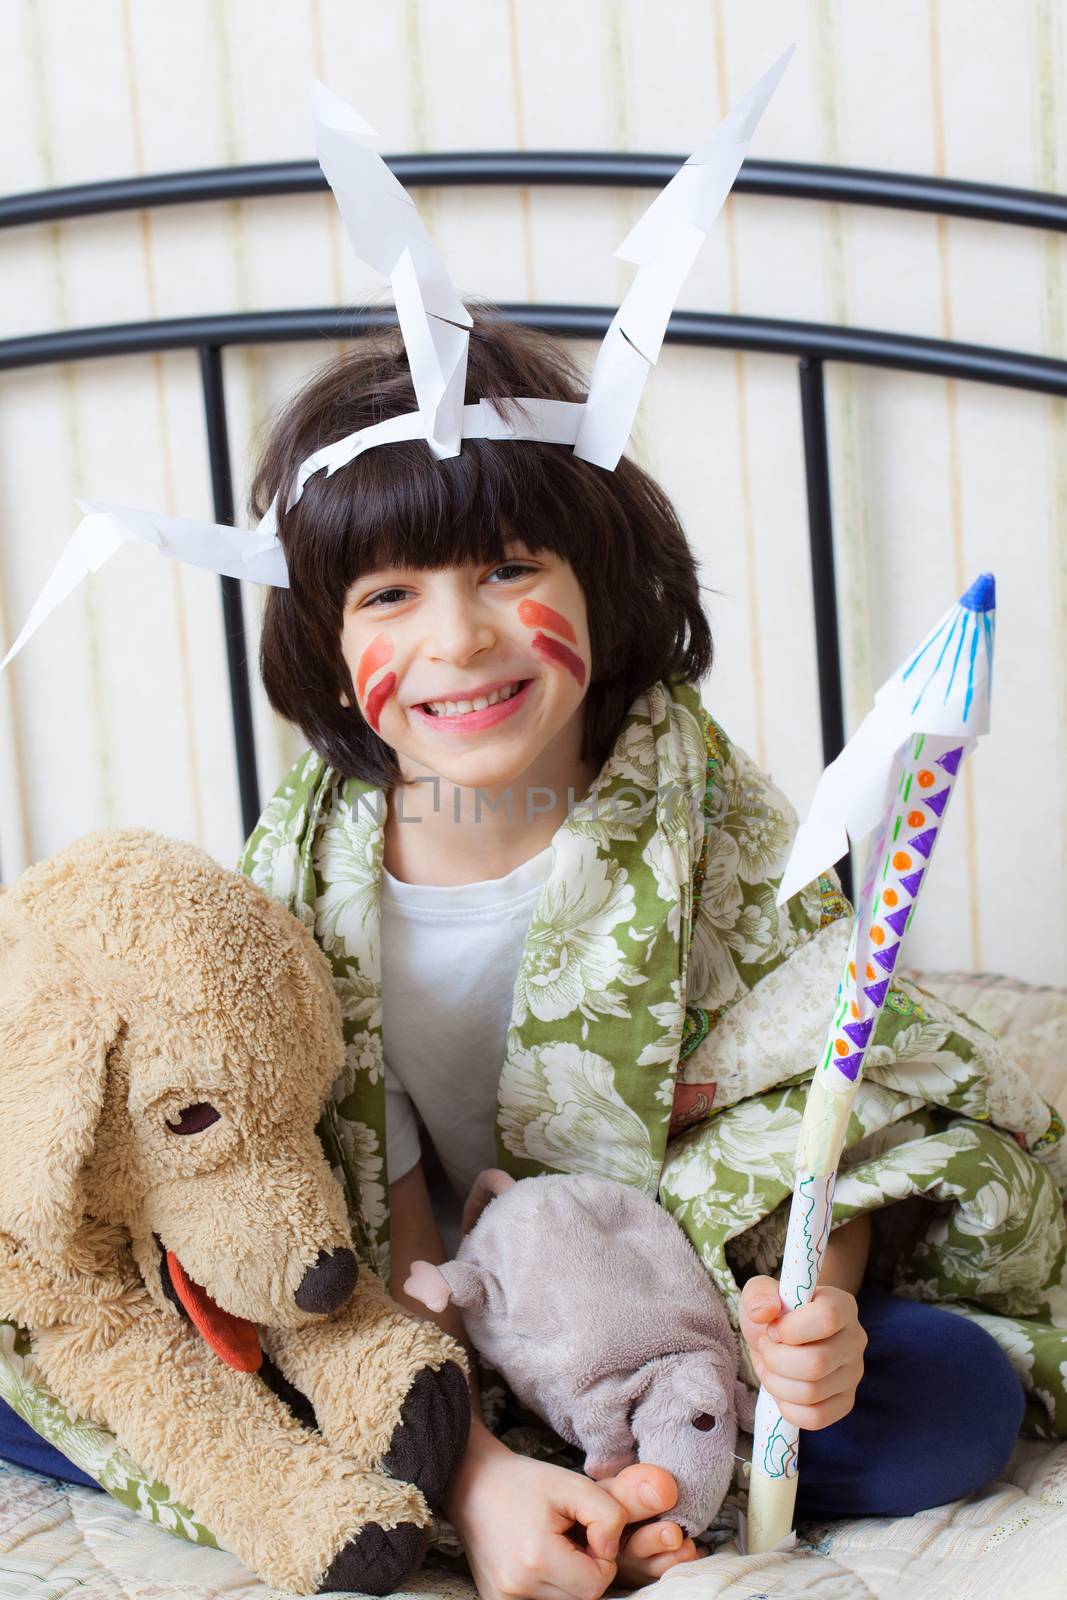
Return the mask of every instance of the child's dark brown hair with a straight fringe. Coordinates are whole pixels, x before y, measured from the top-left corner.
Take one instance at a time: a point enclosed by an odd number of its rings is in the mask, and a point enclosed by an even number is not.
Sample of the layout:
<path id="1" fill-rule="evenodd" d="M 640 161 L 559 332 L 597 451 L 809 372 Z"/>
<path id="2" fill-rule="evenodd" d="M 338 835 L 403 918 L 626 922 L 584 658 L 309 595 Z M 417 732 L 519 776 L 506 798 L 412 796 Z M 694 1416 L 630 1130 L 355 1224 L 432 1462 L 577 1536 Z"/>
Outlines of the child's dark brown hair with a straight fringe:
<path id="1" fill-rule="evenodd" d="M 467 402 L 584 400 L 558 344 L 470 307 Z M 283 506 L 301 462 L 323 445 L 416 408 L 395 330 L 331 362 L 272 429 L 251 490 L 261 517 Z M 274 709 L 346 776 L 389 787 L 397 758 L 354 699 L 341 654 L 344 598 L 366 571 L 504 560 L 504 539 L 566 560 L 585 594 L 592 674 L 582 757 L 611 750 L 622 718 L 659 678 L 693 680 L 712 664 L 696 565 L 664 491 L 621 461 L 605 472 L 568 445 L 467 438 L 438 461 L 422 440 L 368 450 L 333 477 L 318 472 L 278 517 L 288 589 L 270 589 L 259 664 Z"/>

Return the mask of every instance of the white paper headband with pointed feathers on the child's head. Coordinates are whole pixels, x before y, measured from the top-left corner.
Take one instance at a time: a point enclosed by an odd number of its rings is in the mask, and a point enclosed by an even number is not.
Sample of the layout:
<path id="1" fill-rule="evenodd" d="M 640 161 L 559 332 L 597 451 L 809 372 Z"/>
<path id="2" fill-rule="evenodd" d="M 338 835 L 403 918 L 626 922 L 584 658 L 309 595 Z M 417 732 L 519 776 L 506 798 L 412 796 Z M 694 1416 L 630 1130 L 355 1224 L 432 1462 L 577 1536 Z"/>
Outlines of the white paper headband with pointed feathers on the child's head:
<path id="1" fill-rule="evenodd" d="M 346 232 L 362 261 L 384 274 L 411 366 L 418 411 L 394 416 L 315 451 L 299 467 L 291 510 L 323 467 L 334 474 L 365 450 L 424 438 L 435 456 L 458 456 L 464 438 L 522 438 L 571 445 L 576 456 L 613 472 L 625 450 L 667 322 L 689 270 L 723 208 L 734 178 L 789 66 L 779 56 L 718 128 L 693 152 L 616 250 L 637 267 L 608 328 L 584 402 L 483 398 L 464 405 L 470 314 L 426 232 L 414 202 L 366 139 L 374 130 L 325 85 L 314 90 L 315 149 Z M 501 411 L 504 414 L 501 414 Z M 275 502 L 254 530 L 187 522 L 123 506 L 78 501 L 85 517 L 67 541 L 0 672 L 45 618 L 126 542 L 250 582 L 288 587 Z"/>

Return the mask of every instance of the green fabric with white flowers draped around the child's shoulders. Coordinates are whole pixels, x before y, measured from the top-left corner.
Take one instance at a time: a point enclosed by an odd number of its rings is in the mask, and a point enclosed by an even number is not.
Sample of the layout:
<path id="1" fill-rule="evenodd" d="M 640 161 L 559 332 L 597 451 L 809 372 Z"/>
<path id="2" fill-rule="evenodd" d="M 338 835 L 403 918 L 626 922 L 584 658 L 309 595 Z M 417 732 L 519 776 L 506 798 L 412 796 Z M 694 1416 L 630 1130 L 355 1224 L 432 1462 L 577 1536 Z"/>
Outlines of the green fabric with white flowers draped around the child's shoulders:
<path id="1" fill-rule="evenodd" d="M 331 963 L 346 1061 L 320 1136 L 355 1246 L 387 1274 L 384 819 L 381 792 L 309 754 L 240 866 Z M 589 798 L 553 837 L 499 1078 L 499 1165 L 515 1178 L 595 1173 L 657 1195 L 734 1315 L 744 1278 L 781 1259 L 806 1085 L 848 941 L 832 877 L 776 906 L 793 830 L 787 800 L 691 686 L 640 696 Z M 1062 1123 L 997 1040 L 896 982 L 856 1098 L 835 1222 L 912 1200 L 920 1221 L 893 1286 L 987 1326 L 1046 1434 L 1067 1434 L 1065 1184 Z M 13 1339 L 0 1344 L 5 1398 L 90 1472 L 93 1448 L 118 1461 L 109 1435 L 34 1384 L 26 1342 L 16 1363 Z M 502 1424 L 499 1387 L 488 1398 Z M 545 1448 L 533 1427 L 509 1440 Z M 125 1456 L 122 1472 L 122 1483 L 110 1472 L 114 1486 L 96 1475 L 155 1520 L 210 1539 Z"/>

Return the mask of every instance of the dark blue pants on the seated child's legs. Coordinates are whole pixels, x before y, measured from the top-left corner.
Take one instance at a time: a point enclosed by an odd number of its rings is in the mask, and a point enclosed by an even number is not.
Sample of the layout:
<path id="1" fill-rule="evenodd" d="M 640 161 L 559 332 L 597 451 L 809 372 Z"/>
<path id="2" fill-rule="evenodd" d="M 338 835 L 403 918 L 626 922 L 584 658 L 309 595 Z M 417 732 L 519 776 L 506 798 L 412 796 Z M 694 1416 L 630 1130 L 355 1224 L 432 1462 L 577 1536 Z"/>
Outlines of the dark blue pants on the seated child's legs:
<path id="1" fill-rule="evenodd" d="M 800 1438 L 800 1518 L 909 1517 L 971 1494 L 1008 1461 L 1024 1395 L 1008 1357 L 973 1322 L 862 1290 L 870 1336 L 856 1405 Z M 0 1458 L 96 1488 L 0 1402 Z"/>

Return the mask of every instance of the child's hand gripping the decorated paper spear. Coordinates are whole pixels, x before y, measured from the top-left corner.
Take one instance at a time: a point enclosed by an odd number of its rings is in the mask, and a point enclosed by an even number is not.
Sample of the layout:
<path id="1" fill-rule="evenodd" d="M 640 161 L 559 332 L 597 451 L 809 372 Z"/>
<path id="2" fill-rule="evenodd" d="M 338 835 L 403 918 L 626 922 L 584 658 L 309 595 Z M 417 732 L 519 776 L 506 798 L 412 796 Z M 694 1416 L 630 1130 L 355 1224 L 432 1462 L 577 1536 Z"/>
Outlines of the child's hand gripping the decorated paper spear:
<path id="1" fill-rule="evenodd" d="M 853 1410 L 867 1334 L 848 1290 L 819 1285 L 806 1306 L 787 1312 L 774 1278 L 749 1278 L 741 1331 L 757 1378 L 787 1422 L 814 1432 Z"/>

